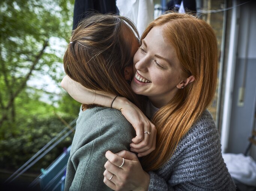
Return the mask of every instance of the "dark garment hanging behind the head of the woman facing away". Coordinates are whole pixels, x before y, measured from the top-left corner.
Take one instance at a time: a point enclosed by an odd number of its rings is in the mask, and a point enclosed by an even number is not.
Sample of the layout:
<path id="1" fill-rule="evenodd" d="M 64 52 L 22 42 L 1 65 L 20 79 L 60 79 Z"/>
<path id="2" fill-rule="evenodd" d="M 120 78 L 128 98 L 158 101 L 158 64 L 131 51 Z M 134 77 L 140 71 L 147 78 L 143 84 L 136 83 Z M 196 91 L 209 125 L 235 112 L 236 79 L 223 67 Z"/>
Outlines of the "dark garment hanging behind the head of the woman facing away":
<path id="1" fill-rule="evenodd" d="M 87 17 L 91 12 L 96 13 L 114 13 L 117 14 L 118 9 L 115 0 L 75 0 L 73 30 L 78 23 Z"/>

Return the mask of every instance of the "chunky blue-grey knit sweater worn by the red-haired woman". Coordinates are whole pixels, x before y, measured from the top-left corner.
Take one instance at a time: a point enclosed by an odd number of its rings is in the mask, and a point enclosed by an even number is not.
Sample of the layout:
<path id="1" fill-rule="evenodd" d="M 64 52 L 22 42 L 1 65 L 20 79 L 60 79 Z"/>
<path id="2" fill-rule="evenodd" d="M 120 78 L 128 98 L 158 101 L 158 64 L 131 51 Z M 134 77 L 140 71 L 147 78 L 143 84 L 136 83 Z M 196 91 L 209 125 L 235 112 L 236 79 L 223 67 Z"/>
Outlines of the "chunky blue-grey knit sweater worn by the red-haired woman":
<path id="1" fill-rule="evenodd" d="M 207 110 L 180 141 L 171 159 L 149 174 L 149 191 L 235 190 L 222 158 L 219 133 Z"/>

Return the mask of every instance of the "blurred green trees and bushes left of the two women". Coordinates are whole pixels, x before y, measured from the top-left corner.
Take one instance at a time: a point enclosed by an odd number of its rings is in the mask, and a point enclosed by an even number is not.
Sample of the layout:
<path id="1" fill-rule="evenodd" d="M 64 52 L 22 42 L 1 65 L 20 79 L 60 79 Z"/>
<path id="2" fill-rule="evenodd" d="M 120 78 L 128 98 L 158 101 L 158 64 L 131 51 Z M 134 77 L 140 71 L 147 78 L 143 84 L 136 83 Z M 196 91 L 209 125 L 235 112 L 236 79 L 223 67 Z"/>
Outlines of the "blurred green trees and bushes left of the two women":
<path id="1" fill-rule="evenodd" d="M 23 165 L 63 129 L 61 120 L 70 122 L 78 115 L 79 103 L 64 91 L 57 94 L 27 85 L 35 76 L 48 75 L 55 83 L 63 78 L 64 72 L 58 68 L 71 34 L 73 3 L 0 1 L 0 168 Z M 64 44 L 52 44 L 52 39 Z M 42 101 L 42 97 L 48 100 Z M 34 170 L 46 168 L 71 141 L 72 135 Z"/>

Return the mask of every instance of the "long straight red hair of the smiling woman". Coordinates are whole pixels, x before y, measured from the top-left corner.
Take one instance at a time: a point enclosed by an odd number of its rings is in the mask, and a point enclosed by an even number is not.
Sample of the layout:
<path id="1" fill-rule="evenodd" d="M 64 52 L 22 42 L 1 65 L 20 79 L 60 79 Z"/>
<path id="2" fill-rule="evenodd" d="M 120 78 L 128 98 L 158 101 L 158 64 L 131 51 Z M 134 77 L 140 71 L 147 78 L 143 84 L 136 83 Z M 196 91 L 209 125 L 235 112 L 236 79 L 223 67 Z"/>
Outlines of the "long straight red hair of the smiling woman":
<path id="1" fill-rule="evenodd" d="M 171 158 L 181 138 L 210 105 L 217 82 L 217 39 L 207 22 L 188 14 L 168 13 L 151 22 L 141 39 L 154 26 L 163 26 L 167 43 L 176 50 L 183 75 L 193 75 L 195 81 L 179 90 L 154 115 L 156 150 L 142 159 L 145 170 L 159 169 Z"/>

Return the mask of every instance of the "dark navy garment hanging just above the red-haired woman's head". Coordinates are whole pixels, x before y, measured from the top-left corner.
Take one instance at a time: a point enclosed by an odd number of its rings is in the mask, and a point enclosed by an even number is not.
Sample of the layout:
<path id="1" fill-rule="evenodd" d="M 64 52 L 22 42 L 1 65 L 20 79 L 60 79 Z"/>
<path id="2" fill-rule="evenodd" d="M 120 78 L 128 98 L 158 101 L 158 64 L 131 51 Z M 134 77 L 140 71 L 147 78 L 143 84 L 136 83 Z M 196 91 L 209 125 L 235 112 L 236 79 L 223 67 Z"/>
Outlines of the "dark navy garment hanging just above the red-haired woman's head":
<path id="1" fill-rule="evenodd" d="M 171 0 L 167 3 L 168 10 L 173 10 L 178 12 L 180 9 L 180 4 L 182 0 Z M 196 13 L 196 0 L 183 0 L 183 6 L 186 12 L 192 11 Z"/>

